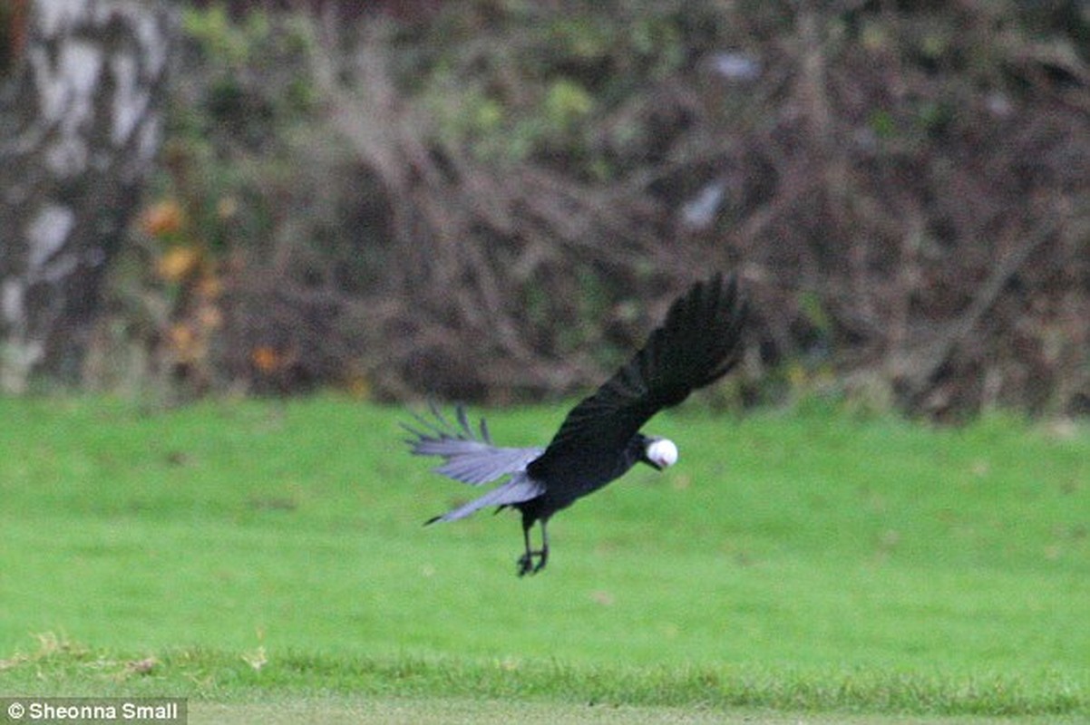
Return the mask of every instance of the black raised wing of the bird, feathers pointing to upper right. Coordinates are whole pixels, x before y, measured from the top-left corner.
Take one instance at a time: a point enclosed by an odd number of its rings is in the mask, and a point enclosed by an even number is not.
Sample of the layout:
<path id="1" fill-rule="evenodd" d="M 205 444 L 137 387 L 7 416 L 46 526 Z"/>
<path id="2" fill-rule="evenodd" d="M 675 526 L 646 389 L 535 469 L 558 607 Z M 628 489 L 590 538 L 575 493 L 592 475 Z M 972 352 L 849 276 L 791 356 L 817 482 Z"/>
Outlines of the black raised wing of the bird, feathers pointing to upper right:
<path id="1" fill-rule="evenodd" d="M 565 418 L 532 478 L 623 448 L 644 422 L 726 374 L 741 353 L 746 304 L 734 277 L 717 274 L 674 302 L 643 348 Z"/>

